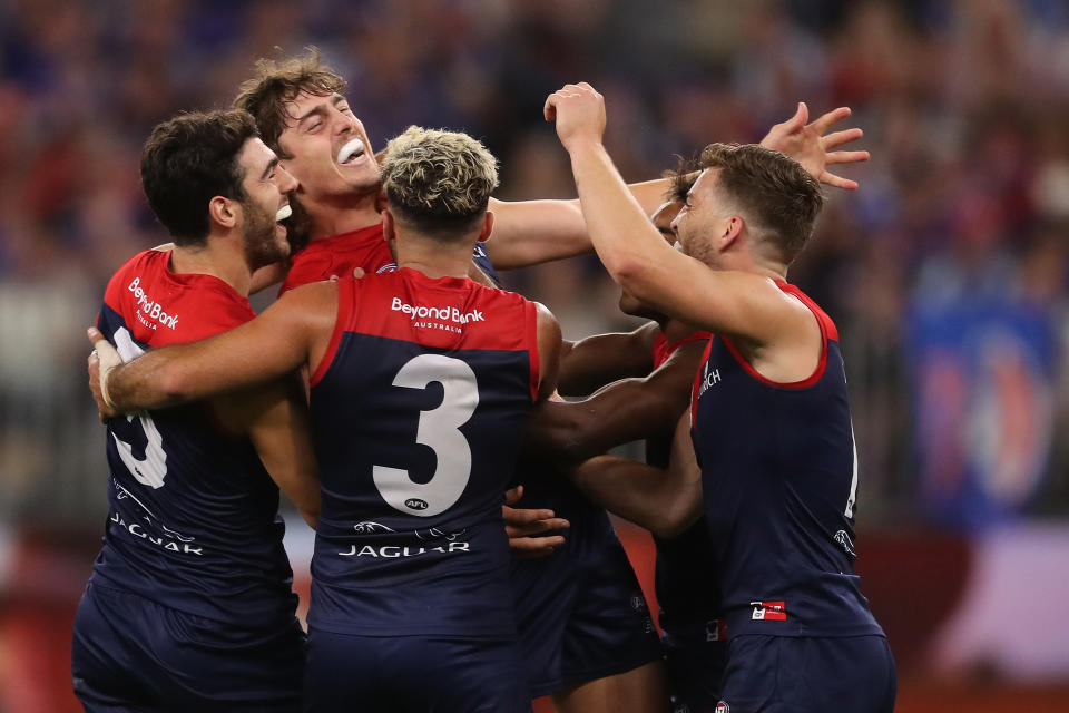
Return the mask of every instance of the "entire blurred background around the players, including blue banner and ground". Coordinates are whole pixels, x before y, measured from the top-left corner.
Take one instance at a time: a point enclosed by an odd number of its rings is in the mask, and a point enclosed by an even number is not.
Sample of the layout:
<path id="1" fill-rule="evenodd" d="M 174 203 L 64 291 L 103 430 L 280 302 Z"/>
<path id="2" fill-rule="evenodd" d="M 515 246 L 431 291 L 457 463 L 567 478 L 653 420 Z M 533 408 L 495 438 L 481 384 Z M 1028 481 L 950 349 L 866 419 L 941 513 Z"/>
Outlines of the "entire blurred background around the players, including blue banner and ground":
<path id="1" fill-rule="evenodd" d="M 84 328 L 111 273 L 166 242 L 141 143 L 307 45 L 375 149 L 410 124 L 463 129 L 509 199 L 575 196 L 541 118 L 569 81 L 605 95 L 629 180 L 757 141 L 798 100 L 852 107 L 872 160 L 842 168 L 861 188 L 826 191 L 790 277 L 842 334 L 859 568 L 900 709 L 1069 691 L 1062 0 L 0 0 L 0 711 L 72 701 L 48 696 L 107 512 Z M 568 339 L 634 325 L 595 257 L 506 283 Z"/>

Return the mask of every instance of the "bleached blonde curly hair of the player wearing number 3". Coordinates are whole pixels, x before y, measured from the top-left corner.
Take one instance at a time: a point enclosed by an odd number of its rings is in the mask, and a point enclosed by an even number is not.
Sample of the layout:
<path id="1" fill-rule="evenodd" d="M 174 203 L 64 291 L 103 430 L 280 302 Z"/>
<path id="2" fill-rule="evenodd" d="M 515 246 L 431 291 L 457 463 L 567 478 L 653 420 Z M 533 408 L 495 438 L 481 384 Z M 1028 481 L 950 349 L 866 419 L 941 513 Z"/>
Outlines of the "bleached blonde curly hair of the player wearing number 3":
<path id="1" fill-rule="evenodd" d="M 398 217 L 420 232 L 467 232 L 498 187 L 498 160 L 467 134 L 410 126 L 384 154 L 382 189 Z"/>

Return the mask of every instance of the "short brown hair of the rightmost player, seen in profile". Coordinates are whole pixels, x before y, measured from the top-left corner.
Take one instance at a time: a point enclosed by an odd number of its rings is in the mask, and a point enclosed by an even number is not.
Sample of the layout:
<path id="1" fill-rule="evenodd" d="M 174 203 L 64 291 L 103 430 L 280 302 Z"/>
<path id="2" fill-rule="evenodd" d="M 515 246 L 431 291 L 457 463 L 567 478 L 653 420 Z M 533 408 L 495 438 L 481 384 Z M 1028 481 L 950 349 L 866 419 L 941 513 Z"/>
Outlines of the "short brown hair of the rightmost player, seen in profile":
<path id="1" fill-rule="evenodd" d="M 702 152 L 700 167 L 719 172 L 719 189 L 791 264 L 824 206 L 816 178 L 796 160 L 758 144 L 709 144 Z"/>

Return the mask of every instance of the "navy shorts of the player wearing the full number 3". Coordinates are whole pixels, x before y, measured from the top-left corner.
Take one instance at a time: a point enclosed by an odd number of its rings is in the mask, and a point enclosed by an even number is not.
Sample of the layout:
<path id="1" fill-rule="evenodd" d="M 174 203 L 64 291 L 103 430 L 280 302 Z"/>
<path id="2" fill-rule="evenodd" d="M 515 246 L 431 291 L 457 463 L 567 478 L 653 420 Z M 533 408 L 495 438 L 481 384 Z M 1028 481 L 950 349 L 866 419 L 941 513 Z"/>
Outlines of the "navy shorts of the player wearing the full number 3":
<path id="1" fill-rule="evenodd" d="M 531 710 L 512 639 L 354 636 L 310 627 L 304 693 L 305 711 L 314 713 Z"/>

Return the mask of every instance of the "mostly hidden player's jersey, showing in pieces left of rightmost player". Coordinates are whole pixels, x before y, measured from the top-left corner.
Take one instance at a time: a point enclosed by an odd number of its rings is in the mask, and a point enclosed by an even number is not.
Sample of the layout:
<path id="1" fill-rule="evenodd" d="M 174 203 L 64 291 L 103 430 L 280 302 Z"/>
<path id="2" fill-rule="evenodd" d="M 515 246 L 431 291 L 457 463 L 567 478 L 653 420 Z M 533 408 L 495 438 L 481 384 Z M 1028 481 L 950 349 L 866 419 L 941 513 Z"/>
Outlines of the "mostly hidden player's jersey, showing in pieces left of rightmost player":
<path id="1" fill-rule="evenodd" d="M 708 332 L 695 332 L 669 344 L 665 333 L 658 333 L 653 348 L 654 369 L 660 368 L 684 344 L 706 341 L 709 336 Z M 670 437 L 646 441 L 646 462 L 650 466 L 667 468 L 670 452 Z M 669 636 L 693 637 L 697 631 L 704 632 L 707 639 L 723 638 L 718 621 L 719 587 L 705 518 L 678 537 L 655 537 L 654 544 L 657 546 L 654 586 L 661 629 Z"/>

